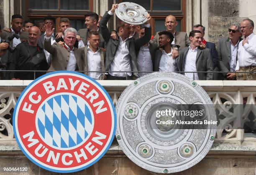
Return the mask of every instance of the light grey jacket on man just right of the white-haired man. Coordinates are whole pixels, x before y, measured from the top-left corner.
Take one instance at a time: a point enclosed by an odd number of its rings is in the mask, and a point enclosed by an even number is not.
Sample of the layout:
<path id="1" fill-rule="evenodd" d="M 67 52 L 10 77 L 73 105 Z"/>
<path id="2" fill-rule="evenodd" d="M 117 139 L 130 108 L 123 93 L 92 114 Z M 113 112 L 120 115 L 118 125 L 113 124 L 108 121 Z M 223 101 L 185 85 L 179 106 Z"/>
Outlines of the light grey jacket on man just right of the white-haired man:
<path id="1" fill-rule="evenodd" d="M 88 57 L 87 57 L 87 50 L 88 47 L 80 47 L 78 49 L 81 53 L 81 57 L 82 60 L 84 60 L 84 71 L 88 71 Z M 101 61 L 101 71 L 105 71 L 105 59 L 106 59 L 106 52 L 104 52 L 101 48 L 100 48 L 100 61 Z M 88 72 L 84 72 L 85 75 L 88 75 Z M 102 75 L 100 77 L 100 80 L 103 80 L 103 77 L 105 75 L 105 72 L 102 72 Z"/>

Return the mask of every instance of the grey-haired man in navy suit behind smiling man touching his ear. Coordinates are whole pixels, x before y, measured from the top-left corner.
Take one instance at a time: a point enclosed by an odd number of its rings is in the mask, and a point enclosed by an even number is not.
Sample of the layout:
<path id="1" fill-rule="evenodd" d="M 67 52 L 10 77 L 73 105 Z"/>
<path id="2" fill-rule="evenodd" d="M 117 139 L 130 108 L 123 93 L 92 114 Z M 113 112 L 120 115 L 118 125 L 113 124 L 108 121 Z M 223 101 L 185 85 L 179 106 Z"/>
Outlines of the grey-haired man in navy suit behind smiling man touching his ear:
<path id="1" fill-rule="evenodd" d="M 213 42 L 208 42 L 204 39 L 205 36 L 205 27 L 201 24 L 194 25 L 194 30 L 199 30 L 202 33 L 202 44 L 205 44 L 206 48 L 211 50 L 213 69 L 218 65 L 218 57 L 216 52 L 216 47 Z M 217 71 L 217 70 L 216 70 Z"/>

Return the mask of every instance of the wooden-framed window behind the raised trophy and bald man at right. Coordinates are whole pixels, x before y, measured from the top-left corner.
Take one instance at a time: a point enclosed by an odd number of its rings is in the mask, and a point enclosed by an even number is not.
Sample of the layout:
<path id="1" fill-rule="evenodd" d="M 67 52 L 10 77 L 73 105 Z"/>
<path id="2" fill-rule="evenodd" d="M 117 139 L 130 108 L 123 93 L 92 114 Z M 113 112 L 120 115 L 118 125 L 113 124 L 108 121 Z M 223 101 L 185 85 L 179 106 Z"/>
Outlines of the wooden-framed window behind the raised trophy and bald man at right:
<path id="1" fill-rule="evenodd" d="M 119 0 L 120 2 L 122 0 Z M 150 13 L 153 18 L 151 23 L 152 33 L 166 30 L 164 21 L 168 15 L 176 17 L 178 22 L 177 31 L 186 31 L 186 0 L 129 0 L 128 2 L 139 4 Z"/>

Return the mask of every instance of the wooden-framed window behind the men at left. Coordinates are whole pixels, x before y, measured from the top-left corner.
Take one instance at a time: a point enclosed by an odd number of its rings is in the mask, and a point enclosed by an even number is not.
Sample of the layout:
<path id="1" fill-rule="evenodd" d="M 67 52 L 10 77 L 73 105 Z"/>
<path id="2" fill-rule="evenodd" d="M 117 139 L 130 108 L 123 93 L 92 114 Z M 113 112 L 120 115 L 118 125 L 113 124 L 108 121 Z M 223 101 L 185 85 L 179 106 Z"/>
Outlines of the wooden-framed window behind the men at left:
<path id="1" fill-rule="evenodd" d="M 77 30 L 85 28 L 84 13 L 93 11 L 93 0 L 26 0 L 24 14 L 31 20 L 43 20 L 47 15 L 56 18 L 56 31 L 59 32 L 60 18 L 69 18 L 71 26 Z"/>

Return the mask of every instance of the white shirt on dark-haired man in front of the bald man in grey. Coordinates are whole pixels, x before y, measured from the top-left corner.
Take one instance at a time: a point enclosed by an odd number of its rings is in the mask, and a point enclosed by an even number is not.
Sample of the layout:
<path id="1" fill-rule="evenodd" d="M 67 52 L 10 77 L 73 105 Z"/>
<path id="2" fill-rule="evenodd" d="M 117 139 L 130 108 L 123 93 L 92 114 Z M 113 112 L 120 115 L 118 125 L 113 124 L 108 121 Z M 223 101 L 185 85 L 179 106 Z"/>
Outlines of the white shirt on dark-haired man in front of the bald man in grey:
<path id="1" fill-rule="evenodd" d="M 178 66 L 175 62 L 175 59 L 172 58 L 172 51 L 166 53 L 165 50 L 162 51 L 161 60 L 159 63 L 159 71 L 169 71 L 169 72 L 178 72 Z"/>

